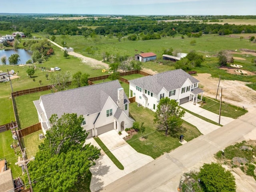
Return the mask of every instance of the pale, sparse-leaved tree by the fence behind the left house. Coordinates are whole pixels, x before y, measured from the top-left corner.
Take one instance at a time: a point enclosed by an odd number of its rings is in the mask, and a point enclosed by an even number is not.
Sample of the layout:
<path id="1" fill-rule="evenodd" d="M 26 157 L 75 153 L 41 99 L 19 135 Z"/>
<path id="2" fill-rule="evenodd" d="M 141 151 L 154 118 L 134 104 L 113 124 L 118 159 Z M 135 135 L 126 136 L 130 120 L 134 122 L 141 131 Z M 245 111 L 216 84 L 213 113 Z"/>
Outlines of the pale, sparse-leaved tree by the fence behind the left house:
<path id="1" fill-rule="evenodd" d="M 56 91 L 63 91 L 70 83 L 70 72 L 52 72 L 50 73 L 50 81 Z"/>

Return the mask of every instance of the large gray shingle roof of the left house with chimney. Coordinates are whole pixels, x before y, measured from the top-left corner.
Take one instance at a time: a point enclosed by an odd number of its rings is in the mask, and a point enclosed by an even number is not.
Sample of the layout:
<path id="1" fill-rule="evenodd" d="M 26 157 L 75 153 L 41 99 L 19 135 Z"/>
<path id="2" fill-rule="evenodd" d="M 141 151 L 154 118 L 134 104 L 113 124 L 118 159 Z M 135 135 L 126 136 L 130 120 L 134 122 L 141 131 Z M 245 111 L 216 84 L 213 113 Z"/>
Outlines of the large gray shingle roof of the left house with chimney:
<path id="1" fill-rule="evenodd" d="M 64 113 L 76 113 L 78 115 L 94 114 L 102 110 L 108 96 L 115 103 L 117 102 L 118 88 L 122 88 L 122 86 L 118 80 L 115 80 L 47 94 L 40 98 L 48 118 L 52 114 L 57 114 L 59 117 Z M 130 101 L 124 93 L 124 104 L 128 103 Z"/>

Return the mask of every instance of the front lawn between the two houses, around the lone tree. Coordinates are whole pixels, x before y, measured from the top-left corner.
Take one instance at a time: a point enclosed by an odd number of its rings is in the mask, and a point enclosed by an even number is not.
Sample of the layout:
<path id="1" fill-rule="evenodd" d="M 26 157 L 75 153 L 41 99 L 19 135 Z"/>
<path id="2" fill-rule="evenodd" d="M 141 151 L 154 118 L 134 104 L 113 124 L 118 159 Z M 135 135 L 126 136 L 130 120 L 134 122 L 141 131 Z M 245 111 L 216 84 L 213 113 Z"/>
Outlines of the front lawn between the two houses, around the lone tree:
<path id="1" fill-rule="evenodd" d="M 153 111 L 142 106 L 138 107 L 136 102 L 129 105 L 129 111 L 132 118 L 138 122 L 144 122 L 144 126 L 146 127 L 146 131 L 143 134 L 138 133 L 127 141 L 136 151 L 155 159 L 181 145 L 179 138 L 165 136 L 164 132 L 156 131 L 157 126 L 153 123 Z M 195 126 L 185 122 L 183 126 L 186 128 L 186 132 L 180 134 L 184 135 L 186 141 L 190 141 L 201 135 Z M 146 140 L 140 140 L 142 136 L 146 136 Z"/>

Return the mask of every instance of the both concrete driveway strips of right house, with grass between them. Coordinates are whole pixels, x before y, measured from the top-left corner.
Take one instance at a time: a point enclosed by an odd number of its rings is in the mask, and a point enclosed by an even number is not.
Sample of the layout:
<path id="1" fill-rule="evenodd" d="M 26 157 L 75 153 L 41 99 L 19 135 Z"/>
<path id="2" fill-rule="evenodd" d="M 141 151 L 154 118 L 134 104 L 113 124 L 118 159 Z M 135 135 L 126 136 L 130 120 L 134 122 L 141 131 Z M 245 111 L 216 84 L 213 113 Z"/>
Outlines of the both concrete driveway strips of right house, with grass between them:
<path id="1" fill-rule="evenodd" d="M 210 112 L 208 110 L 205 110 L 203 108 L 200 108 L 200 104 L 194 105 L 194 104 L 192 104 L 192 102 L 187 102 L 180 106 L 189 111 L 192 111 L 196 114 L 199 114 L 200 116 L 208 118 L 214 122 L 217 122 L 217 123 L 219 122 L 219 115 L 217 115 L 213 112 Z M 196 126 L 198 128 L 198 130 L 204 135 L 209 134 L 210 132 L 220 128 L 220 126 L 206 122 L 205 120 L 202 120 L 188 112 L 185 113 L 185 115 L 182 119 L 185 120 L 186 122 L 189 122 L 190 124 Z M 234 121 L 233 118 L 224 117 L 224 116 L 220 117 L 221 125 L 226 125 L 232 121 Z"/>

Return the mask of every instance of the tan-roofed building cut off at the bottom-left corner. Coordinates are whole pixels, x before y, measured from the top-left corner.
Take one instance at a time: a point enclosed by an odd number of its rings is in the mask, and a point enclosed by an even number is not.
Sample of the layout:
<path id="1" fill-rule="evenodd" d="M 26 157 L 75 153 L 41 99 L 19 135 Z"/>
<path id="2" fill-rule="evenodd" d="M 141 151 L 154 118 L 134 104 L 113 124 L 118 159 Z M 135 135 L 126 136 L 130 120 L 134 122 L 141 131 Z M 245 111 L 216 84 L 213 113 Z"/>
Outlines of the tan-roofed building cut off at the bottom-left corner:
<path id="1" fill-rule="evenodd" d="M 0 191 L 14 192 L 12 171 L 6 168 L 6 160 L 0 161 Z"/>

